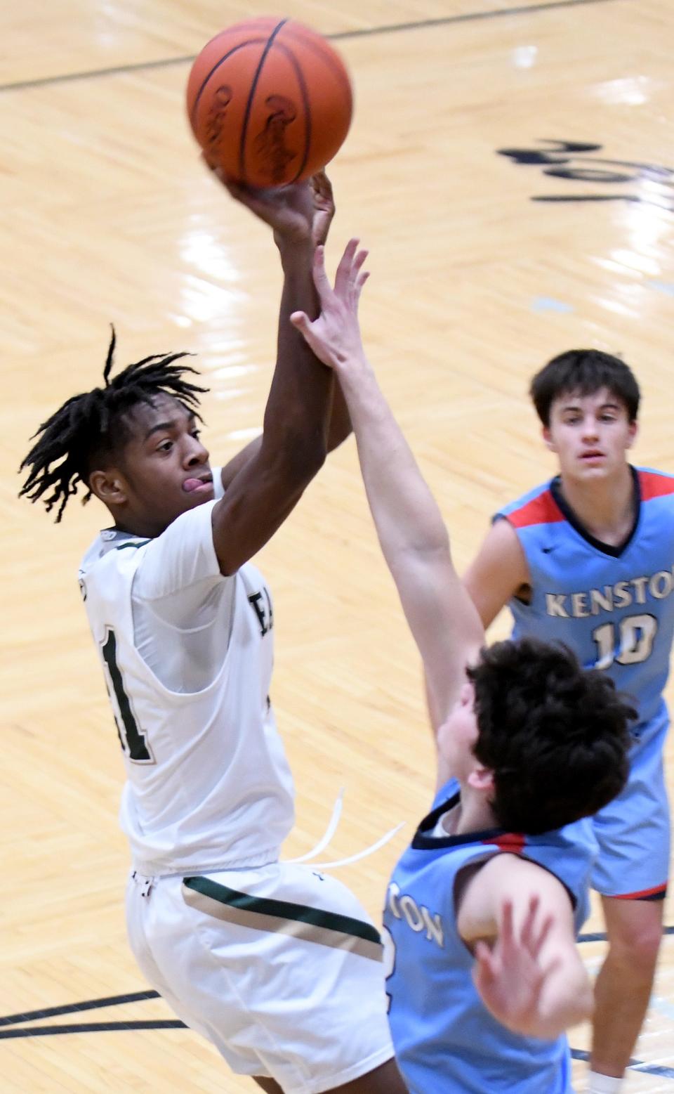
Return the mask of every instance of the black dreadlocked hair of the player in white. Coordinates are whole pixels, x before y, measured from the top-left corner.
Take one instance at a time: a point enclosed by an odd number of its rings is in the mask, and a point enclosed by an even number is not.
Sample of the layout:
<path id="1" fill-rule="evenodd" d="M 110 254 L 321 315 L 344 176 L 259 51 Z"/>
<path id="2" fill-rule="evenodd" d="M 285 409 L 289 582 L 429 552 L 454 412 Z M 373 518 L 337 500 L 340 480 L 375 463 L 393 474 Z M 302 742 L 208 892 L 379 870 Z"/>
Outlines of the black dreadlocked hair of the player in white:
<path id="1" fill-rule="evenodd" d="M 139 403 L 153 405 L 157 395 L 168 395 L 182 403 L 201 421 L 199 394 L 208 387 L 185 380 L 186 372 L 197 373 L 186 364 L 175 364 L 188 353 L 153 353 L 135 364 L 129 364 L 110 380 L 115 345 L 115 327 L 103 370 L 103 387 L 73 395 L 42 423 L 33 434 L 39 440 L 22 461 L 20 472 L 28 474 L 19 497 L 42 501 L 49 513 L 58 505 L 57 524 L 68 499 L 86 487 L 82 503 L 92 491 L 87 486 L 93 458 L 109 456 L 123 443 L 127 431 L 122 417 Z M 197 373 L 198 374 L 198 373 Z"/>

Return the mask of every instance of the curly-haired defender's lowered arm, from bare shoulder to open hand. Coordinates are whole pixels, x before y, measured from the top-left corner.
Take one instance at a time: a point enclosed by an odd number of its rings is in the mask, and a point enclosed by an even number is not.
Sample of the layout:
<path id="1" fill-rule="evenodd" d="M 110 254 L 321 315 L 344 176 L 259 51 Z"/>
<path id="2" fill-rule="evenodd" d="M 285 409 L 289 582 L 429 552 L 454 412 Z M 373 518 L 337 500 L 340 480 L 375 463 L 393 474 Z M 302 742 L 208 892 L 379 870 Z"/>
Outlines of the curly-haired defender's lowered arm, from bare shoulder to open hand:
<path id="1" fill-rule="evenodd" d="M 474 946 L 475 987 L 501 1025 L 552 1039 L 591 1016 L 570 899 L 542 866 L 511 854 L 492 859 L 468 883 L 458 922 Z"/>

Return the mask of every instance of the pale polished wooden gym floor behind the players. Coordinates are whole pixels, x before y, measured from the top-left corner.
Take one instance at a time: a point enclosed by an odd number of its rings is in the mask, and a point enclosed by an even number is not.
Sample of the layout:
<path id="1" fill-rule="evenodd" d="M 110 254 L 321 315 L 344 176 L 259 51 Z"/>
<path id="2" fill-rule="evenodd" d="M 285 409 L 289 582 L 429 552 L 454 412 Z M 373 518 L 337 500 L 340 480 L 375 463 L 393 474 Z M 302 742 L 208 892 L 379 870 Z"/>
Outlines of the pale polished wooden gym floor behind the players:
<path id="1" fill-rule="evenodd" d="M 170 1014 L 142 998 L 126 942 L 122 765 L 75 580 L 103 512 L 71 502 L 55 526 L 16 500 L 15 474 L 37 424 L 98 383 L 110 322 L 119 364 L 199 354 L 213 463 L 258 430 L 275 254 L 206 176 L 182 103 L 191 57 L 250 13 L 248 0 L 24 0 L 0 16 L 0 1014 L 23 1016 L 0 1020 L 2 1094 L 253 1089 L 189 1031 L 138 1027 Z M 563 349 L 625 354 L 645 395 L 636 459 L 674 468 L 666 0 L 344 0 L 339 11 L 289 0 L 284 13 L 334 36 L 353 73 L 355 120 L 331 167 L 331 260 L 351 234 L 371 249 L 369 352 L 458 563 L 494 509 L 552 467 L 525 391 Z M 340 787 L 330 858 L 404 821 L 383 850 L 341 871 L 378 916 L 429 802 L 433 756 L 353 442 L 261 566 L 298 789 L 286 854 L 318 839 Z M 506 629 L 504 618 L 494 632 Z M 587 930 L 601 932 L 596 915 Z M 628 1094 L 674 1094 L 673 946 Z M 602 948 L 583 944 L 591 966 Z M 110 1002 L 78 1013 L 100 999 Z M 582 1052 L 587 1031 L 571 1043 Z"/>

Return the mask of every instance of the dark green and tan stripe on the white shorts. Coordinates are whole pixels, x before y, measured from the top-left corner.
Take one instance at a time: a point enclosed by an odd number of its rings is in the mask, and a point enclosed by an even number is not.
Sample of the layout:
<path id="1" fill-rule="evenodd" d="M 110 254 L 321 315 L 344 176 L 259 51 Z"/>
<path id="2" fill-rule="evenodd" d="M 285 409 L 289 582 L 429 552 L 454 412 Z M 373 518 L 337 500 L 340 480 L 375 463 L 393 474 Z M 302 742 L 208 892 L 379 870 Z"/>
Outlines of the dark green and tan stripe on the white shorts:
<path id="1" fill-rule="evenodd" d="M 348 950 L 371 961 L 383 959 L 379 932 L 362 919 L 288 900 L 250 896 L 210 877 L 184 877 L 182 897 L 191 908 L 215 919 L 258 931 L 279 931 L 336 950 Z"/>

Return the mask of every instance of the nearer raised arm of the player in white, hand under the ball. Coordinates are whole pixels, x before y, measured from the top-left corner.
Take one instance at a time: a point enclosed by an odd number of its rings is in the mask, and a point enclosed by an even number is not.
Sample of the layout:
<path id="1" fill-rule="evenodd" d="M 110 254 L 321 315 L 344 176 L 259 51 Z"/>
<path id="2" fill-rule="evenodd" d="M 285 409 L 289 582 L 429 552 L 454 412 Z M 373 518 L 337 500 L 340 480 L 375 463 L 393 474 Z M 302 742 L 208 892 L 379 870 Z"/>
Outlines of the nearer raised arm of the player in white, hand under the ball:
<path id="1" fill-rule="evenodd" d="M 234 573 L 283 523 L 326 458 L 333 380 L 317 364 L 289 316 L 298 307 L 311 315 L 318 312 L 311 276 L 315 237 L 328 231 L 332 199 L 308 183 L 253 190 L 221 182 L 272 228 L 284 275 L 262 437 L 236 466 L 225 497 L 213 508 L 220 567 L 223 573 Z"/>

